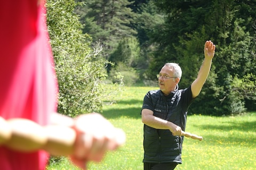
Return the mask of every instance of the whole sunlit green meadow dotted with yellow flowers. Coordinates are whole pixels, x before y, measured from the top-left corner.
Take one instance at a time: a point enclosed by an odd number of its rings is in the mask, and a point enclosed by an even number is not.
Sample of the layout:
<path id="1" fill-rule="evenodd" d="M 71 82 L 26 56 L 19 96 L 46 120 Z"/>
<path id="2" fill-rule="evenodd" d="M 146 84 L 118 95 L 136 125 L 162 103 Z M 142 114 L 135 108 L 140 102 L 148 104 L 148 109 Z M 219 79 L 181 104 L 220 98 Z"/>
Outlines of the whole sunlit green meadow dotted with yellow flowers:
<path id="1" fill-rule="evenodd" d="M 100 164 L 88 169 L 143 169 L 142 100 L 155 87 L 125 87 L 114 98 L 116 104 L 103 107 L 102 115 L 126 133 L 126 143 L 109 152 Z M 196 101 L 194 101 L 196 102 Z M 212 117 L 189 115 L 186 131 L 203 136 L 203 141 L 186 138 L 182 161 L 176 169 L 254 169 L 256 167 L 256 113 L 243 116 Z M 67 159 L 47 169 L 74 169 Z"/>

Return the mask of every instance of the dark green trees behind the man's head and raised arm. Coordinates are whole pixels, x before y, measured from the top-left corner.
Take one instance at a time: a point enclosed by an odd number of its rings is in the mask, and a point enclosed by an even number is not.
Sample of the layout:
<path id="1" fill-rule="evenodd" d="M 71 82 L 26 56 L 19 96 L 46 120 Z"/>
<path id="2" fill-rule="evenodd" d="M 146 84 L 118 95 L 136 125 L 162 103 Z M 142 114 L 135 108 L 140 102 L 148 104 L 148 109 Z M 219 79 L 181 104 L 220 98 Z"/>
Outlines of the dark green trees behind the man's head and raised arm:
<path id="1" fill-rule="evenodd" d="M 180 87 L 187 87 L 202 63 L 204 41 L 216 45 L 212 74 L 196 100 L 193 112 L 238 114 L 255 106 L 255 98 L 245 99 L 234 77 L 242 80 L 256 73 L 255 1 L 156 1 L 165 12 L 165 22 L 150 39 L 158 43 L 148 73 L 157 72 L 165 62 L 177 62 L 183 70 Z M 150 77 L 150 75 L 148 75 Z M 215 80 L 214 80 L 215 79 Z M 249 84 L 255 88 L 254 81 Z M 241 88 L 241 89 L 240 89 Z M 238 90 L 239 89 L 239 90 Z M 256 96 L 256 94 L 252 94 Z"/>

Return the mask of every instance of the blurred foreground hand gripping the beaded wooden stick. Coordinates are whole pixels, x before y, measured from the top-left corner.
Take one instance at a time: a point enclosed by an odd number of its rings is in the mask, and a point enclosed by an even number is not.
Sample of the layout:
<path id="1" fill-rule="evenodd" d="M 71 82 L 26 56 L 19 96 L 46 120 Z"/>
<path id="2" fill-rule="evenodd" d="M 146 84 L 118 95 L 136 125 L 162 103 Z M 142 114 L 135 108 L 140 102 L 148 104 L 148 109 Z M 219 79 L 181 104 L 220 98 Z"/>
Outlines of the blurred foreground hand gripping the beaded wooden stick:
<path id="1" fill-rule="evenodd" d="M 125 133 L 98 113 L 78 116 L 74 129 L 77 137 L 70 159 L 82 169 L 86 169 L 89 161 L 100 162 L 106 151 L 115 150 L 125 142 Z"/>

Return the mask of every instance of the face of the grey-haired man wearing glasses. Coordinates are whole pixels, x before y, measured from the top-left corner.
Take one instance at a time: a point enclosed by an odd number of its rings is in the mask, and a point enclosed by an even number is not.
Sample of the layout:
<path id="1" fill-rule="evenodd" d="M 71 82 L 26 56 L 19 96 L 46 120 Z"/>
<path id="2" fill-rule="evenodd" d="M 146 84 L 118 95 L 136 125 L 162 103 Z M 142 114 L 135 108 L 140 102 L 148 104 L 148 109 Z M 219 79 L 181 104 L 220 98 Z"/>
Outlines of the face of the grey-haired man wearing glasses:
<path id="1" fill-rule="evenodd" d="M 169 95 L 171 91 L 175 90 L 180 79 L 173 78 L 173 69 L 166 65 L 162 67 L 159 75 L 162 75 L 158 78 L 159 88 L 165 95 Z"/>

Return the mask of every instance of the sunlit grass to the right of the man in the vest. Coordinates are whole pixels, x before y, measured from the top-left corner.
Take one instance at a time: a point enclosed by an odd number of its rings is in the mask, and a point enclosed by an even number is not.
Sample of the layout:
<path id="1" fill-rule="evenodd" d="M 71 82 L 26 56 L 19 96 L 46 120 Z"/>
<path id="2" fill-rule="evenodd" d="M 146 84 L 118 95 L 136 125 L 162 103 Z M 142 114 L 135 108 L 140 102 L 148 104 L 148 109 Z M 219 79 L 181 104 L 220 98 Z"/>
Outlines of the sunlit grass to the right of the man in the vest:
<path id="1" fill-rule="evenodd" d="M 254 169 L 255 116 L 189 116 L 187 131 L 203 141 L 185 139 L 178 169 Z"/>

